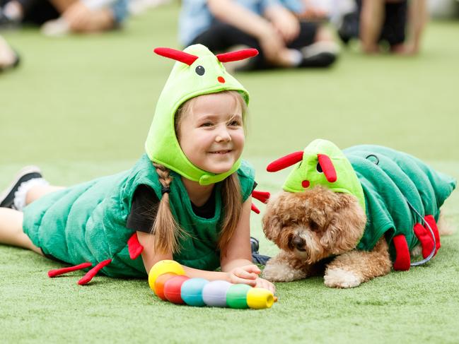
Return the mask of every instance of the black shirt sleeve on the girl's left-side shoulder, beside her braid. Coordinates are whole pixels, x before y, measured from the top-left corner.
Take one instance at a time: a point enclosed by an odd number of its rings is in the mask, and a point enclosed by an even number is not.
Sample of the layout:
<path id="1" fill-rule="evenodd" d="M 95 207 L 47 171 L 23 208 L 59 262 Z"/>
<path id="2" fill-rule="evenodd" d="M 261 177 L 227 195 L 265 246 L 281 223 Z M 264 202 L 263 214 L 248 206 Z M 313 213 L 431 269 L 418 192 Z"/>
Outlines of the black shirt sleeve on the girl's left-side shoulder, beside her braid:
<path id="1" fill-rule="evenodd" d="M 150 233 L 158 211 L 159 199 L 150 186 L 137 186 L 132 196 L 131 213 L 127 217 L 129 230 Z"/>

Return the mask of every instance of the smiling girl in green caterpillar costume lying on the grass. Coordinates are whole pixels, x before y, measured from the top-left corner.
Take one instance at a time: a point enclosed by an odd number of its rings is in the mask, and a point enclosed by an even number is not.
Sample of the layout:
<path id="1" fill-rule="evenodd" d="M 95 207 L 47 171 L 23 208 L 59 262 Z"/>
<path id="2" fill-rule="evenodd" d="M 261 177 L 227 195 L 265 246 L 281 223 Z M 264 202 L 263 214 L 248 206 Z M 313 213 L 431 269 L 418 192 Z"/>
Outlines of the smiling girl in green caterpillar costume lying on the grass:
<path id="1" fill-rule="evenodd" d="M 49 186 L 25 171 L 0 198 L 0 242 L 70 264 L 50 276 L 93 266 L 144 277 L 154 263 L 175 259 L 189 277 L 265 287 L 251 263 L 250 208 L 254 173 L 240 158 L 248 93 L 221 62 L 254 49 L 215 56 L 202 45 L 178 60 L 156 107 L 146 154 L 127 172 L 71 188 Z M 221 266 L 221 272 L 214 271 Z"/>

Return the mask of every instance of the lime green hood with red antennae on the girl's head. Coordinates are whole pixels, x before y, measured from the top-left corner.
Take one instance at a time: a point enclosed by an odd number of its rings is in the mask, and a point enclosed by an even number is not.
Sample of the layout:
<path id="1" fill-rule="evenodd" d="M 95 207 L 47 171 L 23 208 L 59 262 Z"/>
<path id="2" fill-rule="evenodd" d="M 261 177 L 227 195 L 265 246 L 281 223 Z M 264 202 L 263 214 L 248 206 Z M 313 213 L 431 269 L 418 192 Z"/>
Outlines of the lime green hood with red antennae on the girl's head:
<path id="1" fill-rule="evenodd" d="M 146 138 L 145 150 L 150 160 L 168 167 L 183 177 L 202 185 L 214 184 L 236 172 L 239 159 L 228 172 L 214 174 L 201 170 L 188 160 L 175 136 L 175 112 L 192 97 L 237 90 L 249 102 L 249 94 L 236 78 L 233 78 L 222 62 L 253 57 L 256 49 L 214 55 L 204 45 L 191 45 L 183 52 L 169 48 L 156 48 L 156 54 L 178 60 L 165 83 L 156 105 L 156 112 Z"/>

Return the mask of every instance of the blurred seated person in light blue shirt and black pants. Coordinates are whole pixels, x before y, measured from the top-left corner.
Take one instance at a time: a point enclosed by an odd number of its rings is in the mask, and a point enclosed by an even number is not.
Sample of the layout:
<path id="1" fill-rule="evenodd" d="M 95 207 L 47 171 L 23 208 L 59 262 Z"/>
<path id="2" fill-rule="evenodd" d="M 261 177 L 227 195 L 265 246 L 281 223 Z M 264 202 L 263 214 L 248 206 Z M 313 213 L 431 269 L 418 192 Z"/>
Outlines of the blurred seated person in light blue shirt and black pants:
<path id="1" fill-rule="evenodd" d="M 326 28 L 301 22 L 278 0 L 183 0 L 179 35 L 182 45 L 200 43 L 214 53 L 258 49 L 240 70 L 326 67 L 339 51 Z"/>

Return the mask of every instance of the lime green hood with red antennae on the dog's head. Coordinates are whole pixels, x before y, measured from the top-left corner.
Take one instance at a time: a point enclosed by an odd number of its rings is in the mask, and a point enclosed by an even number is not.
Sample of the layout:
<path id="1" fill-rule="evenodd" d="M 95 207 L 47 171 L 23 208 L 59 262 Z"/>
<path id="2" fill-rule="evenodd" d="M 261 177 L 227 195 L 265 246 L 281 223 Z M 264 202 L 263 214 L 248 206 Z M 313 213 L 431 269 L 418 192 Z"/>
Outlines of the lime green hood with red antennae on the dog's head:
<path id="1" fill-rule="evenodd" d="M 283 189 L 289 192 L 301 192 L 316 185 L 323 185 L 335 192 L 356 196 L 365 210 L 365 197 L 356 172 L 346 155 L 335 143 L 317 139 L 311 142 L 303 152 L 286 155 L 269 164 L 267 170 L 276 172 L 301 161 L 290 172 Z"/>

